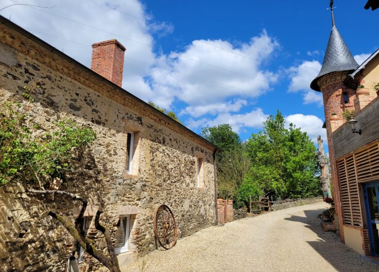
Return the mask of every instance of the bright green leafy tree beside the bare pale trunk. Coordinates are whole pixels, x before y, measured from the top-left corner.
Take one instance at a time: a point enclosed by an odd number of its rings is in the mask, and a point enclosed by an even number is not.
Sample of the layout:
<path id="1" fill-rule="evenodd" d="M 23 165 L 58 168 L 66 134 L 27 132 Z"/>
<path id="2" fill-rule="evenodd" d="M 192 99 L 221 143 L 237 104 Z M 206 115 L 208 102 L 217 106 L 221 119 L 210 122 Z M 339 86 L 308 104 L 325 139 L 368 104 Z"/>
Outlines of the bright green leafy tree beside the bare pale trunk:
<path id="1" fill-rule="evenodd" d="M 264 122 L 262 132 L 253 134 L 246 143 L 251 160 L 248 179 L 260 189 L 274 192 L 276 197 L 305 197 L 319 193 L 319 171 L 316 148 L 309 136 L 277 111 Z"/>

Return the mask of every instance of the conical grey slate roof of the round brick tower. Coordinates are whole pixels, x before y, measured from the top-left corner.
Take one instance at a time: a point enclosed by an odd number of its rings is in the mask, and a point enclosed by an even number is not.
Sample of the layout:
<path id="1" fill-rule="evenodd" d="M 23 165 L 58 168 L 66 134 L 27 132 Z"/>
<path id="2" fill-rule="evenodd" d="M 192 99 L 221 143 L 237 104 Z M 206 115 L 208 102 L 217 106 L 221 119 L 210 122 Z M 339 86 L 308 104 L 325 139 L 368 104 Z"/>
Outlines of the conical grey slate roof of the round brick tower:
<path id="1" fill-rule="evenodd" d="M 323 66 L 320 73 L 310 83 L 310 87 L 315 91 L 320 91 L 320 86 L 317 84 L 320 77 L 331 72 L 355 70 L 358 66 L 341 34 L 338 32 L 336 26 L 333 25 L 329 41 L 327 42 Z"/>

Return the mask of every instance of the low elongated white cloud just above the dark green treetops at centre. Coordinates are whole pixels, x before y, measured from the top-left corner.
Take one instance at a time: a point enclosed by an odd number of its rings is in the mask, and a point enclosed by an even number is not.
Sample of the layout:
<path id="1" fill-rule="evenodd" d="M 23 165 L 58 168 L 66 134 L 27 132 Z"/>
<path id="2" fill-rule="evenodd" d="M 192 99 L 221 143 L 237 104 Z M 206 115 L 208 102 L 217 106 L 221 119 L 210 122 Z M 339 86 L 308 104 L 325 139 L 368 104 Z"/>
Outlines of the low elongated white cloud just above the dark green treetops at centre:
<path id="1" fill-rule="evenodd" d="M 268 118 L 268 115 L 263 113 L 261 108 L 257 108 L 251 112 L 244 114 L 219 114 L 215 119 L 202 118 L 198 120 L 189 119 L 187 125 L 191 129 L 196 129 L 205 126 L 217 126 L 220 124 L 229 124 L 233 131 L 240 133 L 242 127 L 245 128 L 261 128 L 263 122 Z"/>

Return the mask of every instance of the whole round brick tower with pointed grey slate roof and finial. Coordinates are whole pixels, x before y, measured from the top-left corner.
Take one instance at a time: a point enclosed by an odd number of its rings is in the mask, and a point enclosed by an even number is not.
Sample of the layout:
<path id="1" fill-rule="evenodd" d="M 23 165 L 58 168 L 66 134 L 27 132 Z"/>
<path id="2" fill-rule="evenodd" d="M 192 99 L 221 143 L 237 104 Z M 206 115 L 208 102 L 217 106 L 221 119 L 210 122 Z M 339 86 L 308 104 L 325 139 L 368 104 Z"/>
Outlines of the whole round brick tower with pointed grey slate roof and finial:
<path id="1" fill-rule="evenodd" d="M 323 65 L 320 73 L 311 82 L 310 87 L 321 91 L 324 100 L 325 123 L 327 128 L 327 144 L 329 149 L 330 170 L 333 183 L 333 199 L 336 208 L 336 224 L 339 226 L 341 240 L 345 242 L 341 190 L 334 158 L 332 133 L 345 121 L 342 118 L 344 110 L 354 110 L 356 83 L 348 76 L 352 70 L 358 68 L 345 41 L 334 24 L 333 7 L 330 6 L 332 16 L 332 29 L 325 51 Z"/>

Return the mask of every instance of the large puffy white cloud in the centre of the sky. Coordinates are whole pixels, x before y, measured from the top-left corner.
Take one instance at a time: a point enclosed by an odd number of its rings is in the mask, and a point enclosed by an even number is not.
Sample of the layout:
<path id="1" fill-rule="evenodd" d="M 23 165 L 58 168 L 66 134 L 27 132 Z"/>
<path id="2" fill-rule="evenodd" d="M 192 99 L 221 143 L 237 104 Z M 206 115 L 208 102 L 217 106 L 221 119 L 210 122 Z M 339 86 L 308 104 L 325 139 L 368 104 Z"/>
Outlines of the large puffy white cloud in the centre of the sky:
<path id="1" fill-rule="evenodd" d="M 255 98 L 277 81 L 275 73 L 261 69 L 262 61 L 277 47 L 265 31 L 239 48 L 224 40 L 195 40 L 184 51 L 157 59 L 151 85 L 171 90 L 159 98 L 164 107 L 170 107 L 175 97 L 189 106 L 220 103 L 233 96 Z"/>

